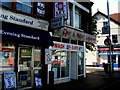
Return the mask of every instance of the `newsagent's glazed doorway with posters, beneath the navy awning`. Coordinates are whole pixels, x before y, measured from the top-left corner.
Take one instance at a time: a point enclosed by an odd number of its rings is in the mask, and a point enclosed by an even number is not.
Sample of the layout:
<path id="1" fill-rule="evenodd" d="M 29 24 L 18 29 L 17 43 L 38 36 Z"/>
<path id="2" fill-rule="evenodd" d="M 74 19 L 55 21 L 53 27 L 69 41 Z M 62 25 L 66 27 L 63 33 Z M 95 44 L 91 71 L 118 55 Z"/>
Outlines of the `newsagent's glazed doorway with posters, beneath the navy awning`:
<path id="1" fill-rule="evenodd" d="M 41 48 L 35 46 L 18 47 L 18 89 L 34 87 L 34 76 L 41 71 Z"/>

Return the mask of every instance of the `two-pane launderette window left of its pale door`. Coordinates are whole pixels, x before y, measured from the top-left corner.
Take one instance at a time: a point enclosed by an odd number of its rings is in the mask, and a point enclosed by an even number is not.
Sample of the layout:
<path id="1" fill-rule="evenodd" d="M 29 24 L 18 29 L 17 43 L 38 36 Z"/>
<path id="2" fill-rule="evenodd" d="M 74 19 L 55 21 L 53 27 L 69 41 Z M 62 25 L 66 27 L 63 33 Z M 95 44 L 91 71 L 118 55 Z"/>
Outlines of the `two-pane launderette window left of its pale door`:
<path id="1" fill-rule="evenodd" d="M 69 76 L 69 54 L 67 51 L 52 50 L 52 71 L 54 78 Z"/>

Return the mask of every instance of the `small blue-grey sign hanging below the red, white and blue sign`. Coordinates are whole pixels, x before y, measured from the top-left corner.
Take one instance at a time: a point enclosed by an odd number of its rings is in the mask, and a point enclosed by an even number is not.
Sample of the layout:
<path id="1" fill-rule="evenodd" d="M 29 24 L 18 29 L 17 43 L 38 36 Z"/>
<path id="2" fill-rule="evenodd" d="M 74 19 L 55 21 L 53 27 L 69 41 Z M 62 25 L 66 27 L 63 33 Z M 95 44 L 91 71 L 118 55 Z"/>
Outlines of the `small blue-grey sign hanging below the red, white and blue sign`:
<path id="1" fill-rule="evenodd" d="M 64 18 L 56 17 L 51 20 L 51 29 L 57 29 L 64 26 Z"/>

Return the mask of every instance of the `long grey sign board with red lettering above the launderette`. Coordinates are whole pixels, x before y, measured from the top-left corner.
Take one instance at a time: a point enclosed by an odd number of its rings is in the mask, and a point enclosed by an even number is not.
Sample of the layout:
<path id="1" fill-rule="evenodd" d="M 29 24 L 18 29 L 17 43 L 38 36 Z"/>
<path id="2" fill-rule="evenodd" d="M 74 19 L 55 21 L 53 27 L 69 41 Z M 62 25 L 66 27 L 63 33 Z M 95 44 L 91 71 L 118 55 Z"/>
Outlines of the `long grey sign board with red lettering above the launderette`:
<path id="1" fill-rule="evenodd" d="M 84 32 L 80 32 L 76 29 L 69 28 L 69 27 L 64 27 L 61 29 L 55 29 L 54 30 L 54 35 L 55 36 L 61 36 L 64 38 L 69 38 L 72 40 L 80 40 L 80 41 L 85 41 L 89 43 L 95 43 L 96 42 L 96 36 L 95 35 L 90 35 Z"/>

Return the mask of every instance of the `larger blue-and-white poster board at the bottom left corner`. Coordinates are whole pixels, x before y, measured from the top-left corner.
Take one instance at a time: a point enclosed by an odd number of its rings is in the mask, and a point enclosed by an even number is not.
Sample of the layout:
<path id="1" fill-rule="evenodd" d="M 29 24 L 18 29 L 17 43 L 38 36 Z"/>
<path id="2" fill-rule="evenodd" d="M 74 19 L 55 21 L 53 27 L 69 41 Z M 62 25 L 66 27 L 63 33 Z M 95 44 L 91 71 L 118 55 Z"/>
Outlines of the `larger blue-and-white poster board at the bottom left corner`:
<path id="1" fill-rule="evenodd" d="M 13 71 L 4 72 L 4 89 L 14 90 L 16 88 L 16 75 Z"/>

